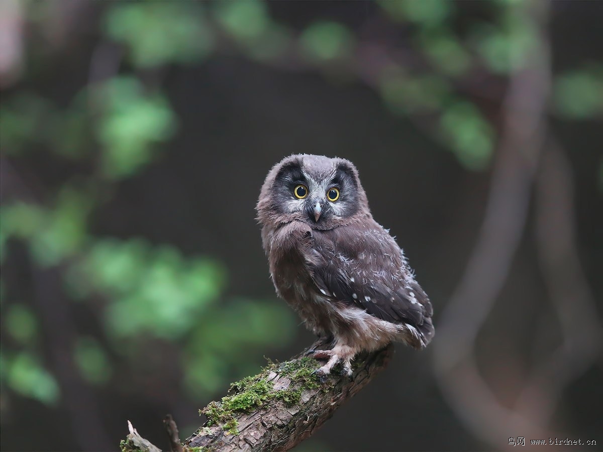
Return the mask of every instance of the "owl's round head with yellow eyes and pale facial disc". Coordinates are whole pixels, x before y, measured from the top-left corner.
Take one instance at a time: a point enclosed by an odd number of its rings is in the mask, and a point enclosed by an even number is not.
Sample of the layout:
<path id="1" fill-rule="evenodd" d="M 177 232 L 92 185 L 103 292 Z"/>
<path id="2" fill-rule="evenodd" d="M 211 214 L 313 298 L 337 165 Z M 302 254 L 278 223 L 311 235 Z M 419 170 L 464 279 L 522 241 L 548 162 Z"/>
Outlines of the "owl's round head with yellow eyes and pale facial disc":
<path id="1" fill-rule="evenodd" d="M 263 225 L 303 221 L 320 230 L 370 215 L 367 196 L 352 162 L 308 154 L 289 155 L 274 165 L 256 209 Z"/>

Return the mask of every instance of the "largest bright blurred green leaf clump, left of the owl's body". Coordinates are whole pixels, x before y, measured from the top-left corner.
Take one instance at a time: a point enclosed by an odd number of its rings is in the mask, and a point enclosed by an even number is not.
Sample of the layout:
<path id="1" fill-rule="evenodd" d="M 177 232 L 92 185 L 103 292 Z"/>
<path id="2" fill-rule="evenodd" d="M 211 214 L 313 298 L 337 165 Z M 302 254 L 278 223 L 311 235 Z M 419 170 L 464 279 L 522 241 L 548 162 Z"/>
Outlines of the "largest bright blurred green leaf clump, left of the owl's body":
<path id="1" fill-rule="evenodd" d="M 219 295 L 224 270 L 207 259 L 184 259 L 172 246 L 134 240 L 96 243 L 83 265 L 97 290 L 112 299 L 106 327 L 118 337 L 141 332 L 175 339 Z"/>

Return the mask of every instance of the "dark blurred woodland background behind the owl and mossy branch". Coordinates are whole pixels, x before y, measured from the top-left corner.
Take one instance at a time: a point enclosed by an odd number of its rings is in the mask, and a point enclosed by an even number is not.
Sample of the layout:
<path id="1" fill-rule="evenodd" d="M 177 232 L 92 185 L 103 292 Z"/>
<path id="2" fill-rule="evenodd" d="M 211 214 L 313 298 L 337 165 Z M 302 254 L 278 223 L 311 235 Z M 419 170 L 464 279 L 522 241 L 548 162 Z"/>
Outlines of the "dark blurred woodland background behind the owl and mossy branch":
<path id="1" fill-rule="evenodd" d="M 2 0 L 2 450 L 168 448 L 312 341 L 254 220 L 298 152 L 358 166 L 436 327 L 298 450 L 601 450 L 601 17 Z"/>

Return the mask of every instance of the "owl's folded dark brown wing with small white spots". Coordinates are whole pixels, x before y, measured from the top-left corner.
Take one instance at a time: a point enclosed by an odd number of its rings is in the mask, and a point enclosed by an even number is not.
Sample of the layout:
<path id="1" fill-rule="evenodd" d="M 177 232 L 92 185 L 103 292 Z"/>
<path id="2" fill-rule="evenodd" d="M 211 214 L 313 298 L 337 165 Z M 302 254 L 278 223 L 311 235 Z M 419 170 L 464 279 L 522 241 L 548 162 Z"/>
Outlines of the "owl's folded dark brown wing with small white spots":
<path id="1" fill-rule="evenodd" d="M 318 290 L 394 324 L 414 327 L 431 341 L 433 309 L 402 250 L 376 222 L 312 231 L 311 274 Z M 308 262 L 308 261 L 306 261 Z"/>

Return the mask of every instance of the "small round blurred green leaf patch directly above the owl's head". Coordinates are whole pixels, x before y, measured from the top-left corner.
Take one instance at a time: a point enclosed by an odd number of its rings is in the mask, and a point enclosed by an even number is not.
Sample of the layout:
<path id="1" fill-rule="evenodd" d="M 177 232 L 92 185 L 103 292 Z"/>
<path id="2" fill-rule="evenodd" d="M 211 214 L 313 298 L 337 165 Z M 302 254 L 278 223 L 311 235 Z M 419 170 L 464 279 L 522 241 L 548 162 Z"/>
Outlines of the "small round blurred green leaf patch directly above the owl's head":
<path id="1" fill-rule="evenodd" d="M 302 51 L 312 60 L 333 60 L 352 53 L 352 33 L 338 22 L 318 20 L 309 25 L 299 39 Z"/>

